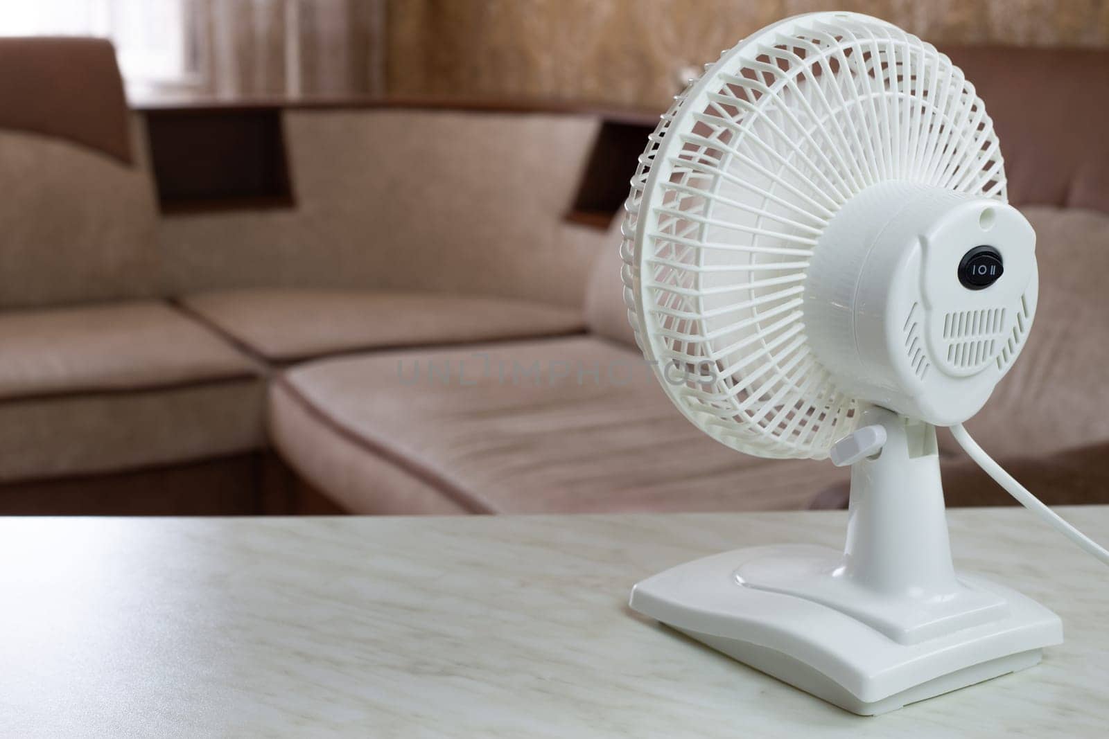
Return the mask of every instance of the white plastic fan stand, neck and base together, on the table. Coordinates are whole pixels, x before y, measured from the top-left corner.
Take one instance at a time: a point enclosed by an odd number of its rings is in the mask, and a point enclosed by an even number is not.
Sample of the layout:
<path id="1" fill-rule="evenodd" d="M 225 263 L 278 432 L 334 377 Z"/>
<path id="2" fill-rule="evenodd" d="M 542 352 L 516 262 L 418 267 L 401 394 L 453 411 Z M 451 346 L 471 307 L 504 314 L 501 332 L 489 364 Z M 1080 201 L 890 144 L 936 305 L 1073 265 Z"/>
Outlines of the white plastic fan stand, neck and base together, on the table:
<path id="1" fill-rule="evenodd" d="M 842 553 L 718 554 L 639 583 L 631 607 L 866 716 L 1039 663 L 1059 617 L 952 565 L 934 427 L 879 408 L 863 424 L 886 442 L 852 465 Z"/>

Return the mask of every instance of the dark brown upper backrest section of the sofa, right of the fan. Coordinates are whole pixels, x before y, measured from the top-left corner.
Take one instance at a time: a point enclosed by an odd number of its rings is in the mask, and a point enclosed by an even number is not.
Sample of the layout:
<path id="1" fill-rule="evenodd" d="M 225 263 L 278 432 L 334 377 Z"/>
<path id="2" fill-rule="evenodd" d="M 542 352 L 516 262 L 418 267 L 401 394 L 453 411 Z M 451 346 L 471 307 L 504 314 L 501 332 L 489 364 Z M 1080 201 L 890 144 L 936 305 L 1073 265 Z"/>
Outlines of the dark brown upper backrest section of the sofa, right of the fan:
<path id="1" fill-rule="evenodd" d="M 994 120 L 1009 201 L 1109 213 L 1109 53 L 945 47 Z"/>

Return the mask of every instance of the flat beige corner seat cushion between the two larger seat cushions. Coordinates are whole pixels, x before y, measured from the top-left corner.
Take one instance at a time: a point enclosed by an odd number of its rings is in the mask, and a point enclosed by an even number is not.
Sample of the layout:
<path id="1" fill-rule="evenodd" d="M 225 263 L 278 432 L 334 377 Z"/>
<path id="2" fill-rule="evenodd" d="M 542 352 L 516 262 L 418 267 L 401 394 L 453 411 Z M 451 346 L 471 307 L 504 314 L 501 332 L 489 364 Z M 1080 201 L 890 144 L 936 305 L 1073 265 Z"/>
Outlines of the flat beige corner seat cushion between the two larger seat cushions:
<path id="1" fill-rule="evenodd" d="M 577 310 L 442 292 L 257 288 L 193 295 L 180 305 L 273 361 L 558 336 L 583 328 Z"/>

